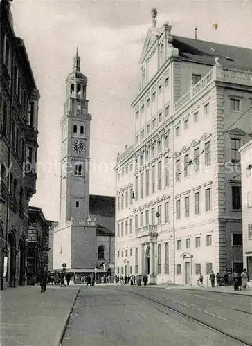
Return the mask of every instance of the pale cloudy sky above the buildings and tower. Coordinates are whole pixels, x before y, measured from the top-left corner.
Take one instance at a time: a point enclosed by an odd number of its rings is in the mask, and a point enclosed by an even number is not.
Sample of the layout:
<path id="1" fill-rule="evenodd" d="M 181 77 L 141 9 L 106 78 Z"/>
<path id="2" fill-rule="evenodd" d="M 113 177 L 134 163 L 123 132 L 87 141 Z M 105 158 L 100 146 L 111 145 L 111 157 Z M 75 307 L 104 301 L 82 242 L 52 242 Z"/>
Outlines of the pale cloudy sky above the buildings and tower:
<path id="1" fill-rule="evenodd" d="M 66 75 L 72 71 L 78 45 L 87 76 L 91 121 L 91 194 L 114 195 L 116 154 L 133 143 L 130 104 L 141 78 L 138 64 L 158 11 L 157 26 L 166 21 L 172 34 L 252 48 L 252 2 L 135 0 L 14 0 L 15 34 L 24 39 L 39 100 L 37 192 L 30 206 L 58 221 L 60 195 L 60 119 L 66 100 Z M 213 23 L 218 28 L 213 28 Z"/>

